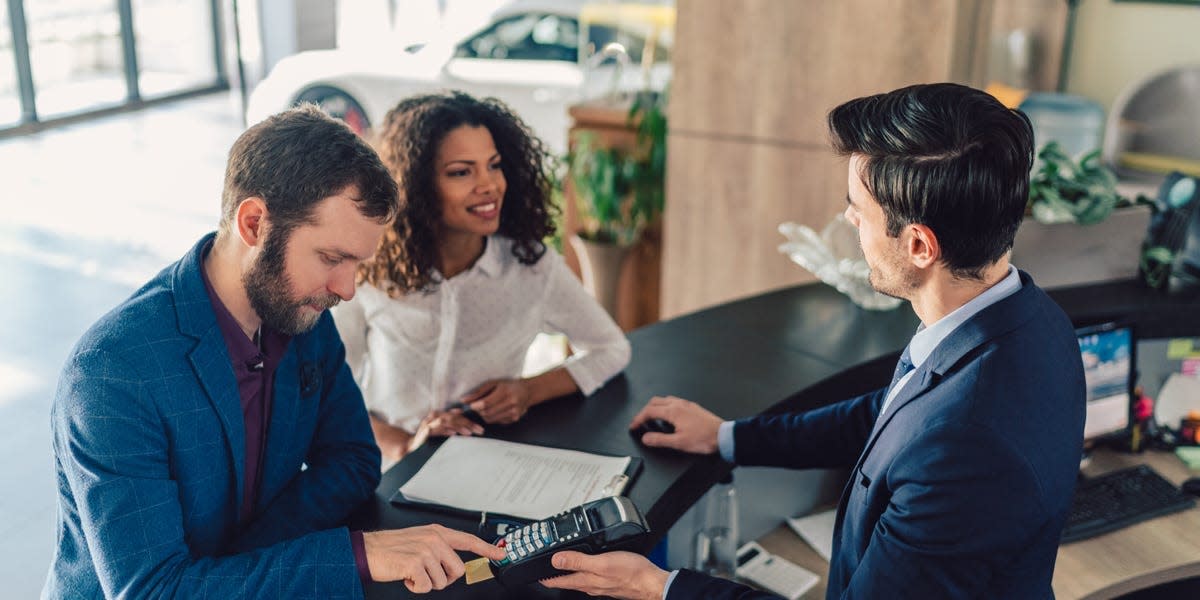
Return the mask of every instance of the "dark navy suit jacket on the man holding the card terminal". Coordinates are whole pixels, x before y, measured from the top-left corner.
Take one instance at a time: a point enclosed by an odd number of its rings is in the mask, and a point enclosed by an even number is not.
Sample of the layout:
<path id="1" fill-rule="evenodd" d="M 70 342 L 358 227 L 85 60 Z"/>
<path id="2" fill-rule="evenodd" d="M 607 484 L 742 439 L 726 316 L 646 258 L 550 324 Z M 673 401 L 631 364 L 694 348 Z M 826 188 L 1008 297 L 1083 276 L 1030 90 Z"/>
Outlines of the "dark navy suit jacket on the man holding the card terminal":
<path id="1" fill-rule="evenodd" d="M 1070 320 L 1021 289 L 954 330 L 898 392 L 733 428 L 738 464 L 853 470 L 827 598 L 1054 598 L 1086 391 Z M 680 571 L 670 598 L 764 598 Z"/>

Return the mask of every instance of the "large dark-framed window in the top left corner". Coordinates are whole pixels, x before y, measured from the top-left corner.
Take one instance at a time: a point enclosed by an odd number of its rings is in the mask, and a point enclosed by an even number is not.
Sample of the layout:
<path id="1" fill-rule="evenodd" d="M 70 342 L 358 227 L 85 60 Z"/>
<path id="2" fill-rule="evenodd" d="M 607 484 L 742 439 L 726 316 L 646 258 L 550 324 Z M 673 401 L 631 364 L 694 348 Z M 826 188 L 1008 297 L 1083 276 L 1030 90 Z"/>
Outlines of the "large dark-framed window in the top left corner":
<path id="1" fill-rule="evenodd" d="M 228 85 L 218 0 L 5 4 L 0 128 Z"/>

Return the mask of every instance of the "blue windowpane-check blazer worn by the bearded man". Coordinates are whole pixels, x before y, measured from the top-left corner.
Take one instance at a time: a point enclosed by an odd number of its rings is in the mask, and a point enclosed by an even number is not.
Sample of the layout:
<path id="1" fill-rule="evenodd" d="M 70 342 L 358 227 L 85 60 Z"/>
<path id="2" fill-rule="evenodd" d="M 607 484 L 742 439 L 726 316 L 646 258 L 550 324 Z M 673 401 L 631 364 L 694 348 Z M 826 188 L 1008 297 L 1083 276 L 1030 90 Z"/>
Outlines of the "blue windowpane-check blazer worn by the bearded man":
<path id="1" fill-rule="evenodd" d="M 253 516 L 245 425 L 200 278 L 202 239 L 72 350 L 52 408 L 58 548 L 43 598 L 360 598 L 338 523 L 379 482 L 328 313 L 292 338 Z"/>

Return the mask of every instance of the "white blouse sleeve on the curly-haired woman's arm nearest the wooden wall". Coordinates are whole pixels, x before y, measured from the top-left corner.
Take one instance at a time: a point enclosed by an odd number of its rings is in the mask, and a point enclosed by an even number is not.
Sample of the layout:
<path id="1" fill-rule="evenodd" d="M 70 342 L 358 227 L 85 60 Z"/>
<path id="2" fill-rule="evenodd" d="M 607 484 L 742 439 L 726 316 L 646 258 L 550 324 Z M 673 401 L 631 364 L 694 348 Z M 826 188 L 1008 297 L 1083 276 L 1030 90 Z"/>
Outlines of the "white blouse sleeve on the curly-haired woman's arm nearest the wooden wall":
<path id="1" fill-rule="evenodd" d="M 590 395 L 629 365 L 625 334 L 566 268 L 557 252 L 542 257 L 548 270 L 545 326 L 566 335 L 575 354 L 563 365 L 580 391 Z"/>

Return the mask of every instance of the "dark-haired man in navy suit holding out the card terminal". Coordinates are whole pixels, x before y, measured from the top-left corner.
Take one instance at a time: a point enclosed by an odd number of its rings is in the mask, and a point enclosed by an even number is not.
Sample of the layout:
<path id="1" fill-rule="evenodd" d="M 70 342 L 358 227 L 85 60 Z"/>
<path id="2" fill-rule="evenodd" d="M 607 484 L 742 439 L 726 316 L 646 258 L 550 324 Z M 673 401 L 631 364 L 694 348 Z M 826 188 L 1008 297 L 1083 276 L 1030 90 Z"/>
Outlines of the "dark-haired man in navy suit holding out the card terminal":
<path id="1" fill-rule="evenodd" d="M 676 397 L 647 445 L 736 464 L 852 467 L 828 598 L 1054 598 L 1050 580 L 1082 444 L 1085 389 L 1068 318 L 1008 263 L 1033 133 L 1019 112 L 955 84 L 914 85 L 829 114 L 850 157 L 846 217 L 875 289 L 922 325 L 893 383 L 803 414 L 725 421 Z M 760 598 L 631 553 L 563 552 L 546 582 L 619 598 Z"/>

